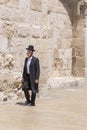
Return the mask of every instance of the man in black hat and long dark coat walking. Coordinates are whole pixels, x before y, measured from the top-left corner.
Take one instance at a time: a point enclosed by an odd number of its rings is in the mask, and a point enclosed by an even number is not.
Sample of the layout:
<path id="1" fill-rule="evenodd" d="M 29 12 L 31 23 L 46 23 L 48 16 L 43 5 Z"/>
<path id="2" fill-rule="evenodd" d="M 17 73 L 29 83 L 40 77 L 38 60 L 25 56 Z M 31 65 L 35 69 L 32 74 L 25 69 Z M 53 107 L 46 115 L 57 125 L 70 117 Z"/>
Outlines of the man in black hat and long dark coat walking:
<path id="1" fill-rule="evenodd" d="M 25 105 L 30 104 L 35 106 L 36 93 L 38 90 L 40 65 L 39 59 L 33 56 L 34 46 L 29 45 L 27 50 L 27 58 L 25 58 L 24 69 L 23 69 L 23 88 L 26 102 Z M 31 97 L 29 94 L 31 90 Z"/>

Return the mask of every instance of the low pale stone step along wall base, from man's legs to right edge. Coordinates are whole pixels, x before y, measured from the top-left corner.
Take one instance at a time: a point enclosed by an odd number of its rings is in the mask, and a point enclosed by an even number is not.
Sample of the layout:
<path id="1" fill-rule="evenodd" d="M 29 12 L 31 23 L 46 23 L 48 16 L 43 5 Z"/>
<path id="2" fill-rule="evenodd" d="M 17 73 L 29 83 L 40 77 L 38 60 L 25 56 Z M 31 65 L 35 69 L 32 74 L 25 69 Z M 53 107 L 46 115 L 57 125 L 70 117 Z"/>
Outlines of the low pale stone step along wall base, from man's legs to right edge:
<path id="1" fill-rule="evenodd" d="M 54 97 L 58 95 L 59 89 L 78 89 L 86 88 L 85 78 L 65 77 L 50 78 L 47 85 L 40 88 L 39 98 Z"/>

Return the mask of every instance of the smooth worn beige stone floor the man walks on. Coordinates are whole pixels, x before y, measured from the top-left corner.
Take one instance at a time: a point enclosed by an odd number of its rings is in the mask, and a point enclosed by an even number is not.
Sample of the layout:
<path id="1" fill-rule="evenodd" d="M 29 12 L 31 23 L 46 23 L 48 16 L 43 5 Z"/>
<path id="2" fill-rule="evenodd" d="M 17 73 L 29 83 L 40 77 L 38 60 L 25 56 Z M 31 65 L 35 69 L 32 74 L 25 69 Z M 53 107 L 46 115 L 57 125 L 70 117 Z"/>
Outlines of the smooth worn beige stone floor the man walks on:
<path id="1" fill-rule="evenodd" d="M 0 130 L 87 130 L 86 88 L 55 90 L 35 107 L 23 103 L 0 104 Z"/>

